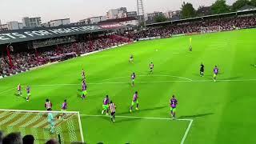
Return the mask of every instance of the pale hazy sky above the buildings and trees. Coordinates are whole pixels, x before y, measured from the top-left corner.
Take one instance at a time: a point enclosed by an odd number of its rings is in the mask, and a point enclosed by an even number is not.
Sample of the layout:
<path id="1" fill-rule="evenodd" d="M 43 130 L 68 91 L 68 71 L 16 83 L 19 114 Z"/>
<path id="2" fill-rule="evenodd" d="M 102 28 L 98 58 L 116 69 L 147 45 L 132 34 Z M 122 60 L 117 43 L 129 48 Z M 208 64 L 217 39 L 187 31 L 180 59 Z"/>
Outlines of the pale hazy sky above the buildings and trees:
<path id="1" fill-rule="evenodd" d="M 146 13 L 180 10 L 182 2 L 191 2 L 194 8 L 210 6 L 215 0 L 143 0 Z M 226 0 L 231 5 L 235 0 Z M 23 17 L 41 17 L 42 22 L 70 18 L 71 22 L 94 16 L 106 15 L 106 11 L 127 7 L 137 10 L 136 0 L 1 0 L 0 20 L 22 22 Z"/>

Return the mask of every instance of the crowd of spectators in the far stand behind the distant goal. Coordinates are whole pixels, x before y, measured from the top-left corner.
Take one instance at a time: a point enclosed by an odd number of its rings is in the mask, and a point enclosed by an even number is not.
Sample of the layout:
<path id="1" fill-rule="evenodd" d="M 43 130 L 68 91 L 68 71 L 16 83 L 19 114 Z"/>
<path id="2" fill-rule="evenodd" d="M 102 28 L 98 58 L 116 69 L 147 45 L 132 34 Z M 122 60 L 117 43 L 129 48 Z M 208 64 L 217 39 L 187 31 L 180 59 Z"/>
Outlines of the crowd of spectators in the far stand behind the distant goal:
<path id="1" fill-rule="evenodd" d="M 150 27 L 147 30 L 138 32 L 129 32 L 124 34 L 127 38 L 150 38 L 150 37 L 170 37 L 174 34 L 191 34 L 201 33 L 203 27 L 219 26 L 220 31 L 244 29 L 256 26 L 256 16 L 234 17 L 234 18 L 218 18 L 199 22 L 184 22 L 172 24 L 170 26 Z"/>

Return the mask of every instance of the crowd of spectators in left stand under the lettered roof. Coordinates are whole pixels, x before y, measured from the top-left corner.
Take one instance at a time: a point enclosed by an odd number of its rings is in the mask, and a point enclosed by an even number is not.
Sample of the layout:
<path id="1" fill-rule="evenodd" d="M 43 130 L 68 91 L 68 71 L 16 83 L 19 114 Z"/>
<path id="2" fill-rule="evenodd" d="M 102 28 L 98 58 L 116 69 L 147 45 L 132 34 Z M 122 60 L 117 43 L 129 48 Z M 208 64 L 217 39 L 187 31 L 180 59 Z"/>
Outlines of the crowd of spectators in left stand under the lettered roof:
<path id="1" fill-rule="evenodd" d="M 42 47 L 38 48 L 37 51 L 32 49 L 26 50 L 28 52 L 15 52 L 14 48 L 14 52 L 11 52 L 10 54 L 12 66 L 10 66 L 10 61 L 6 54 L 2 54 L 2 57 L 0 58 L 0 77 L 18 74 L 22 71 L 30 70 L 35 66 L 41 66 L 48 62 L 63 61 L 95 50 L 118 46 L 126 42 L 129 42 L 126 38 L 110 35 L 84 40 L 83 42 L 68 42 L 62 45 L 52 45 L 48 46 L 47 49 Z M 38 44 L 37 42 L 37 46 L 42 46 L 42 44 Z"/>

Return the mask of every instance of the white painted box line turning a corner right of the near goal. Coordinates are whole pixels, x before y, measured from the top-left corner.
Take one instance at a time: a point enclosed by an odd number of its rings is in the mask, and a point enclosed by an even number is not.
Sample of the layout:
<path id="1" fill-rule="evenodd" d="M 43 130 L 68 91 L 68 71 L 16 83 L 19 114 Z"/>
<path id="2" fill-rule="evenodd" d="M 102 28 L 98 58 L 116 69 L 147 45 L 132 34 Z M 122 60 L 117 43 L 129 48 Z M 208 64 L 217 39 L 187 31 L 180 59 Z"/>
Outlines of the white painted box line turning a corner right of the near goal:
<path id="1" fill-rule="evenodd" d="M 91 117 L 91 118 L 100 118 L 100 117 L 109 117 L 109 116 L 106 116 L 106 115 L 92 115 L 92 114 L 81 114 L 81 117 Z M 194 122 L 194 119 L 190 119 L 190 118 L 178 118 L 178 119 L 172 119 L 172 118 L 156 118 L 156 117 L 138 117 L 138 116 L 115 116 L 116 118 L 138 118 L 138 119 L 145 119 L 145 120 L 158 120 L 158 121 L 167 121 L 168 120 L 170 122 L 186 122 L 186 128 L 185 128 L 185 132 L 183 131 L 182 132 L 182 138 L 180 139 L 180 141 L 178 143 L 180 144 L 184 144 L 186 143 L 186 138 L 187 138 L 187 135 L 189 134 L 190 132 L 190 129 L 191 129 L 191 126 L 192 126 L 192 123 Z M 116 120 L 118 122 L 118 119 Z"/>

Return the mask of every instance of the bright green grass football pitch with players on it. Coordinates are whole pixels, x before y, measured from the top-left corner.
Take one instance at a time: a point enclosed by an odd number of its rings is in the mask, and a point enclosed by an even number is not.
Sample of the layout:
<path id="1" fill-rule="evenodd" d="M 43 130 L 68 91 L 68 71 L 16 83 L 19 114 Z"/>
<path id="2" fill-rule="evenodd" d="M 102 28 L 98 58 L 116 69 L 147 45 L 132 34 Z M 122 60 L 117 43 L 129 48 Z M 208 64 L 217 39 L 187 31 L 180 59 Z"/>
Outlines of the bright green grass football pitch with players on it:
<path id="1" fill-rule="evenodd" d="M 190 37 L 193 51 L 188 50 Z M 256 143 L 255 38 L 256 29 L 165 38 L 70 59 L 1 79 L 0 109 L 45 110 L 50 98 L 53 110 L 60 110 L 67 99 L 68 110 L 82 114 L 88 143 Z M 134 63 L 128 62 L 130 54 Z M 204 77 L 199 75 L 201 62 Z M 217 82 L 213 82 L 215 65 Z M 86 100 L 80 98 L 82 68 Z M 30 102 L 16 96 L 18 83 L 23 97 L 26 86 L 31 86 Z M 130 113 L 136 90 L 139 110 Z M 117 106 L 115 123 L 101 115 L 106 94 Z M 178 99 L 178 120 L 170 119 L 172 94 Z"/>

